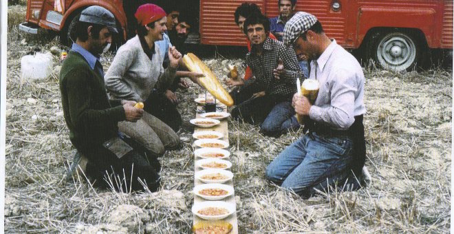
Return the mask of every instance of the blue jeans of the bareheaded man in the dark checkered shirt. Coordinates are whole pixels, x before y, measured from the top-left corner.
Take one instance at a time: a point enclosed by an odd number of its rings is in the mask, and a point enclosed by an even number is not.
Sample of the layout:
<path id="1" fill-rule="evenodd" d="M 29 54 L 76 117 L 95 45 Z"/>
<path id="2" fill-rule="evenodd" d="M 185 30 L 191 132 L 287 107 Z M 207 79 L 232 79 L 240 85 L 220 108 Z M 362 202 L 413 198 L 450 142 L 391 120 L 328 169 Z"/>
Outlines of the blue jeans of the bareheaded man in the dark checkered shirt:
<path id="1" fill-rule="evenodd" d="M 278 136 L 290 129 L 299 128 L 298 120 L 295 117 L 295 110 L 291 101 L 283 101 L 274 105 L 270 114 L 266 116 L 260 125 L 260 130 L 268 136 Z"/>

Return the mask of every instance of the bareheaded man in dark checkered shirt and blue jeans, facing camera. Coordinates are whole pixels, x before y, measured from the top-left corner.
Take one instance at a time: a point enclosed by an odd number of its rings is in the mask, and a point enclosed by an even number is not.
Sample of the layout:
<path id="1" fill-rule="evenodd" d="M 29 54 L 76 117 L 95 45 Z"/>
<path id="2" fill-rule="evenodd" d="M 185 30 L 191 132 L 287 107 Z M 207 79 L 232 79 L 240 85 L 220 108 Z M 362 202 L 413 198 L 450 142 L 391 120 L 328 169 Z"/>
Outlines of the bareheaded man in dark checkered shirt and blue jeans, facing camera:
<path id="1" fill-rule="evenodd" d="M 246 54 L 246 63 L 252 69 L 252 78 L 245 81 L 240 91 L 252 94 L 242 103 L 235 103 L 235 119 L 260 124 L 261 132 L 269 136 L 299 127 L 294 117 L 292 96 L 296 92 L 296 78 L 302 78 L 296 54 L 279 41 L 268 37 L 270 21 L 263 14 L 252 14 L 244 22 L 244 33 L 252 49 Z M 235 100 L 237 101 L 237 100 Z"/>

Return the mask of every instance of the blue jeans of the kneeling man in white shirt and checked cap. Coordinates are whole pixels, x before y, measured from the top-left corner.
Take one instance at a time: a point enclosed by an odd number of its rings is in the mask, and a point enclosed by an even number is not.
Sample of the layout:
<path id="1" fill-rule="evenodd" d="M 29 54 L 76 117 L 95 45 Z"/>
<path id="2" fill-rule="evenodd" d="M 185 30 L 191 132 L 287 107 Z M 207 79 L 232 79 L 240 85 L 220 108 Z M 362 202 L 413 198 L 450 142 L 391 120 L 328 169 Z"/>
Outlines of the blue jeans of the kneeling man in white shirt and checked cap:
<path id="1" fill-rule="evenodd" d="M 352 140 L 308 133 L 285 148 L 266 168 L 268 180 L 309 197 L 316 189 L 342 186 L 351 174 Z M 353 178 L 352 178 L 353 180 Z M 349 182 L 352 182 L 349 178 Z M 356 188 L 355 188 L 356 189 Z"/>

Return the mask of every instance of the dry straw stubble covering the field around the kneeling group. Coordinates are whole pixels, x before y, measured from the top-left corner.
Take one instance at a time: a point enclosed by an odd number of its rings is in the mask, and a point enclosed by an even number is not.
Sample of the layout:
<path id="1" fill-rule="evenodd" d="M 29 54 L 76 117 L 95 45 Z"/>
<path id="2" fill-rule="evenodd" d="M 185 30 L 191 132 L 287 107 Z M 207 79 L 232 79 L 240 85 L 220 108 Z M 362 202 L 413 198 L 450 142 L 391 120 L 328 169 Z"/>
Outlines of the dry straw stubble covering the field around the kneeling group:
<path id="1" fill-rule="evenodd" d="M 21 22 L 17 14 L 23 16 L 23 7 L 10 8 L 10 23 Z M 36 46 L 49 50 L 58 40 L 25 36 L 11 24 L 9 29 L 5 232 L 188 233 L 194 167 L 191 126 L 185 124 L 179 132 L 184 148 L 162 158 L 165 191 L 123 194 L 94 189 L 83 179 L 67 182 L 64 172 L 74 148 L 63 120 L 58 74 L 43 81 L 19 76 L 21 56 Z M 23 38 L 27 45 L 20 44 Z M 241 63 L 225 60 L 206 63 L 218 75 L 224 74 L 224 63 Z M 57 58 L 54 63 L 59 64 Z M 108 65 L 109 59 L 105 68 Z M 281 191 L 266 182 L 264 170 L 301 132 L 276 139 L 261 136 L 252 125 L 229 123 L 240 233 L 449 231 L 451 70 L 394 73 L 369 67 L 365 74 L 366 163 L 373 180 L 360 191 L 309 200 Z M 192 100 L 199 92 L 191 87 L 179 94 L 186 123 L 195 114 Z M 128 222 L 114 222 L 111 214 L 118 205 L 138 208 L 131 210 L 135 213 Z"/>

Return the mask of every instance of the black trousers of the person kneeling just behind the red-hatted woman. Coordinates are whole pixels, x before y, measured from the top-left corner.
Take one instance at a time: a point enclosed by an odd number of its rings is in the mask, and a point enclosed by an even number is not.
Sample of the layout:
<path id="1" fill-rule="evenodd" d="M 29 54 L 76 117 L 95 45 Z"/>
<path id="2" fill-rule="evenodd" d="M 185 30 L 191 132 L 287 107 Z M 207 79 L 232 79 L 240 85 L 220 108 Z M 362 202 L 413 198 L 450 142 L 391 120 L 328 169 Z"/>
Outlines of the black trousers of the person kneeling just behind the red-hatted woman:
<path id="1" fill-rule="evenodd" d="M 159 118 L 175 132 L 182 126 L 182 116 L 177 110 L 177 105 L 158 90 L 153 90 L 149 98 L 144 101 L 144 111 Z"/>

